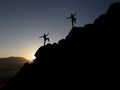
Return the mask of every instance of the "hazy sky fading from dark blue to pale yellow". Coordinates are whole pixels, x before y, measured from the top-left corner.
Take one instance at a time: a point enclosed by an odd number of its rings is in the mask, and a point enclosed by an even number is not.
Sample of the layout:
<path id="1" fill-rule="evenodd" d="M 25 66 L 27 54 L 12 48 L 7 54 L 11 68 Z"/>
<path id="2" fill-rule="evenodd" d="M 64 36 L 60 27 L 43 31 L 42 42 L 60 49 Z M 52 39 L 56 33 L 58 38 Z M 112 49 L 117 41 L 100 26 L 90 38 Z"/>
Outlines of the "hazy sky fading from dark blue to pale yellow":
<path id="1" fill-rule="evenodd" d="M 71 13 L 77 11 L 76 26 L 84 26 L 116 1 L 120 0 L 0 0 L 0 57 L 31 59 L 43 45 L 38 38 L 43 33 L 50 33 L 51 43 L 65 38 Z"/>

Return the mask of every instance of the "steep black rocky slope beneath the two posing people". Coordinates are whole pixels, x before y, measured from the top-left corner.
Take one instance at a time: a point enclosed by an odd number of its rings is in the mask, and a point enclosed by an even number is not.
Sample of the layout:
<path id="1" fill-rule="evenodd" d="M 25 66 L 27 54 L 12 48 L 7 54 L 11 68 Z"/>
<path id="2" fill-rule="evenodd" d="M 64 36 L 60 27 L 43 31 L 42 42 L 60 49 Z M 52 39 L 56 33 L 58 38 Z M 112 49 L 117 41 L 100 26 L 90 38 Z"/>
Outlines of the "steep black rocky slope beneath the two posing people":
<path id="1" fill-rule="evenodd" d="M 40 47 L 34 62 L 26 63 L 2 89 L 115 89 L 119 30 L 116 2 L 93 24 L 73 27 L 65 39 Z"/>

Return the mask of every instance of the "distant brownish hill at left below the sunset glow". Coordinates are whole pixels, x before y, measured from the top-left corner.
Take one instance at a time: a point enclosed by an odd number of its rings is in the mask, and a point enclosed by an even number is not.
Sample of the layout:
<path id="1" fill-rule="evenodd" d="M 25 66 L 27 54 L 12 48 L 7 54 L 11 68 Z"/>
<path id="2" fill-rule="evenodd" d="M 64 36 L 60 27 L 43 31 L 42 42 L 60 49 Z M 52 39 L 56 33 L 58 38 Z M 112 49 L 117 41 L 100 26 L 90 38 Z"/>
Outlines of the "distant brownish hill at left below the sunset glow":
<path id="1" fill-rule="evenodd" d="M 4 86 L 28 62 L 22 57 L 0 58 L 0 87 Z"/>

